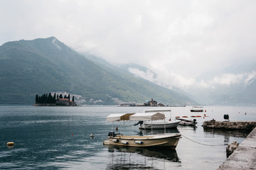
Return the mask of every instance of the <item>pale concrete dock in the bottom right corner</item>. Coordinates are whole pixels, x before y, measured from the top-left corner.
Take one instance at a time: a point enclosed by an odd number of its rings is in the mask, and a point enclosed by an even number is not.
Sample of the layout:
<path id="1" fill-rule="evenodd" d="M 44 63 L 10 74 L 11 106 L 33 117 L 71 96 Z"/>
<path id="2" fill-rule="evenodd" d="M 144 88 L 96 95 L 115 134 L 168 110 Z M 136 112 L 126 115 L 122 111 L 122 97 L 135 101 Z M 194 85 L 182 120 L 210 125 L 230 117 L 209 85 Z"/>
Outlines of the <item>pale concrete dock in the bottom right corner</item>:
<path id="1" fill-rule="evenodd" d="M 256 128 L 240 143 L 233 154 L 218 167 L 224 169 L 256 169 Z"/>

